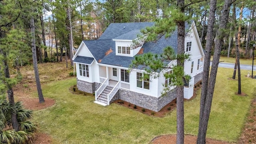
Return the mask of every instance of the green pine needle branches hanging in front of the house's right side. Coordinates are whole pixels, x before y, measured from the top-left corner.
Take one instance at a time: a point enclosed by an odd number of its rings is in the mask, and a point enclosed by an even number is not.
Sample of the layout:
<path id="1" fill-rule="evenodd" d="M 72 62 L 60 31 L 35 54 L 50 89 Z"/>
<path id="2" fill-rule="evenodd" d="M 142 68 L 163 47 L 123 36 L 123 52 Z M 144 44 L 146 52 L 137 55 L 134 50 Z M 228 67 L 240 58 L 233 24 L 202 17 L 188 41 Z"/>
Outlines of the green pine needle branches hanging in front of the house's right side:
<path id="1" fill-rule="evenodd" d="M 178 9 L 170 6 L 166 11 L 166 18 L 162 18 L 156 22 L 152 27 L 147 27 L 141 30 L 142 36 L 138 36 L 138 39 L 134 40 L 132 48 L 138 48 L 145 42 L 157 42 L 162 36 L 169 38 L 176 30 L 177 20 L 188 20 L 189 16 L 184 16 Z M 189 60 L 189 54 L 176 54 L 171 46 L 166 46 L 163 49 L 162 54 L 145 53 L 135 56 L 130 65 L 130 71 L 134 69 L 144 70 L 147 74 L 144 76 L 150 76 L 150 78 L 157 78 L 160 76 L 160 72 L 168 72 L 172 70 L 170 74 L 164 74 L 166 78 L 170 78 L 168 85 L 163 84 L 164 90 L 162 95 L 165 95 L 172 86 L 183 86 L 184 82 L 187 83 L 190 80 L 190 76 L 185 74 L 182 67 L 176 64 L 177 59 L 185 62 Z M 172 62 L 170 64 L 170 62 Z M 142 78 L 144 79 L 144 78 Z M 149 78 L 148 78 L 149 79 Z"/>

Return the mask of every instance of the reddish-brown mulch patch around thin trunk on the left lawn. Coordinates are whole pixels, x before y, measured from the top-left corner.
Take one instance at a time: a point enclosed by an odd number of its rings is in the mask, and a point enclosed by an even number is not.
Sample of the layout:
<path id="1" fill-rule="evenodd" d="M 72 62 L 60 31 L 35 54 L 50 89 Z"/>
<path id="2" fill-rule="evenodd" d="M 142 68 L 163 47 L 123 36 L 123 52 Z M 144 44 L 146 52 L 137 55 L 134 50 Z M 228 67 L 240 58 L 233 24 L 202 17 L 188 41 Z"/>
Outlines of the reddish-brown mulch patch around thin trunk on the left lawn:
<path id="1" fill-rule="evenodd" d="M 51 98 L 44 98 L 43 103 L 39 103 L 38 98 L 22 98 L 20 100 L 24 107 L 30 110 L 41 110 L 55 104 L 55 100 Z"/>

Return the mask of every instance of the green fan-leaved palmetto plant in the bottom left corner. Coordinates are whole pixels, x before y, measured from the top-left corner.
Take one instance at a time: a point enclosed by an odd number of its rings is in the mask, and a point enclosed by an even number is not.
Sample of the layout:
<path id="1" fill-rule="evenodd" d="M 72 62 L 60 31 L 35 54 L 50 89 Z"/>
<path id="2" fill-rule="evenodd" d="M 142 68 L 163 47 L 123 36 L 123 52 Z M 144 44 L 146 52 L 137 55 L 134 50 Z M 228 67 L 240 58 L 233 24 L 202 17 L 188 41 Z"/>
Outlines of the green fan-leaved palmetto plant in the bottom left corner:
<path id="1" fill-rule="evenodd" d="M 20 126 L 18 132 L 12 129 L 11 113 L 15 111 Z M 0 100 L 0 144 L 31 143 L 38 129 L 36 124 L 29 121 L 31 118 L 32 111 L 24 109 L 20 101 L 12 107 L 7 100 Z"/>

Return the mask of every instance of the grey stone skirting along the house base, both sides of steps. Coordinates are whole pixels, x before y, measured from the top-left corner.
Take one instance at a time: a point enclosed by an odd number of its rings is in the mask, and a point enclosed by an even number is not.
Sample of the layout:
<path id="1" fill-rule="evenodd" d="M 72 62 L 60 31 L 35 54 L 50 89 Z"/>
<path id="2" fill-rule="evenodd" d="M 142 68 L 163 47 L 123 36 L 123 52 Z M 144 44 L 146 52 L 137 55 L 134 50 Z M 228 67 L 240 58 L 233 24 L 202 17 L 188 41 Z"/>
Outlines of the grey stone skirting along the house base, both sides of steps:
<path id="1" fill-rule="evenodd" d="M 77 88 L 83 92 L 94 93 L 100 87 L 100 83 L 94 82 L 86 82 L 83 80 L 77 80 Z M 172 100 L 176 98 L 176 90 L 171 90 L 166 94 L 166 96 L 160 96 L 156 98 L 154 96 L 149 96 L 146 94 L 141 94 L 138 92 L 132 92 L 130 90 L 120 89 L 115 96 L 110 101 L 113 102 L 115 100 L 124 100 L 126 102 L 130 102 L 132 104 L 136 104 L 142 108 L 146 108 L 155 112 L 161 110 L 166 104 L 170 103 Z"/>

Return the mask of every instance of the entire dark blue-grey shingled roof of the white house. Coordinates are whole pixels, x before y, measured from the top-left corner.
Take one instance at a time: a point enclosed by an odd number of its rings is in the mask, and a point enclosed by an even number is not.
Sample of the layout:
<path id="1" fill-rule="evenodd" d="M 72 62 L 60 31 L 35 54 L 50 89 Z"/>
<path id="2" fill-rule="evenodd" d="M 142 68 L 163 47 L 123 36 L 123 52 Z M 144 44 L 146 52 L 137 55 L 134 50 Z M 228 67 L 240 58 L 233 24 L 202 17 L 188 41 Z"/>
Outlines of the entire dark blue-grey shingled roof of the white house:
<path id="1" fill-rule="evenodd" d="M 192 24 L 185 23 L 185 30 L 188 30 Z M 146 26 L 152 26 L 154 22 L 140 22 L 140 23 L 115 23 L 110 24 L 99 40 L 88 40 L 84 43 L 96 58 L 97 62 L 101 60 L 101 64 L 110 64 L 115 66 L 122 66 L 128 68 L 134 57 L 130 56 L 116 56 L 115 41 L 112 39 L 126 40 L 125 34 L 128 33 L 127 38 L 133 38 L 138 30 Z M 130 37 L 131 36 L 131 37 Z M 136 37 L 135 37 L 136 38 Z M 169 38 L 162 36 L 156 42 L 146 42 L 143 44 L 143 53 L 152 52 L 154 54 L 161 54 L 166 46 L 172 46 L 174 52 L 177 52 L 177 30 L 175 30 Z M 105 56 L 105 53 L 112 48 L 113 52 Z"/>

